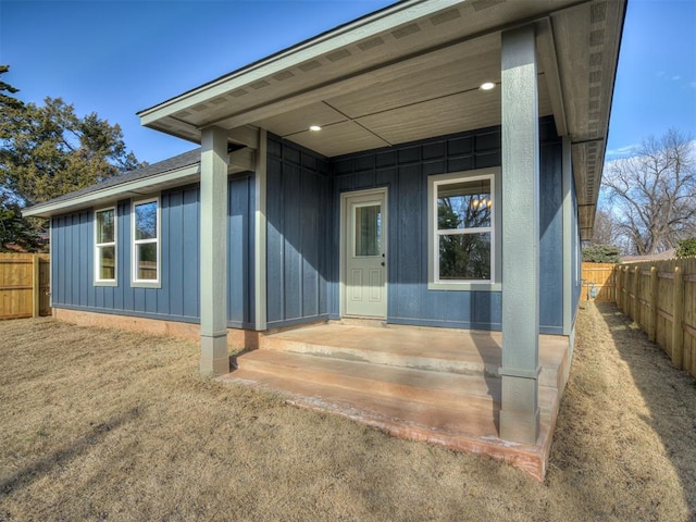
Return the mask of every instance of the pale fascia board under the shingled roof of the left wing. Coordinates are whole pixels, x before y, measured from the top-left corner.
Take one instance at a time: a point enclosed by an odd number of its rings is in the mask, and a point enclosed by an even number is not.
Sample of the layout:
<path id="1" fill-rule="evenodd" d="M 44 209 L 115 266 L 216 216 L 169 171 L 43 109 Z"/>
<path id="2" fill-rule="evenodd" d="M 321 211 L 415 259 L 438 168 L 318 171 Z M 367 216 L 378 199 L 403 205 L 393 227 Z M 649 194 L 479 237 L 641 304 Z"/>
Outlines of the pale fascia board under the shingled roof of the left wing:
<path id="1" fill-rule="evenodd" d="M 185 167 L 176 169 L 153 176 L 145 177 L 142 179 L 135 179 L 133 182 L 122 183 L 120 185 L 113 185 L 105 187 L 94 192 L 83 194 L 75 196 L 74 198 L 57 201 L 54 203 L 36 204 L 22 211 L 24 217 L 50 217 L 51 215 L 61 212 L 69 211 L 71 209 L 88 207 L 95 201 L 116 200 L 123 198 L 127 192 L 137 192 L 156 185 L 165 185 L 173 182 L 182 181 L 187 177 L 196 176 L 200 173 L 200 165 L 194 164 Z"/>

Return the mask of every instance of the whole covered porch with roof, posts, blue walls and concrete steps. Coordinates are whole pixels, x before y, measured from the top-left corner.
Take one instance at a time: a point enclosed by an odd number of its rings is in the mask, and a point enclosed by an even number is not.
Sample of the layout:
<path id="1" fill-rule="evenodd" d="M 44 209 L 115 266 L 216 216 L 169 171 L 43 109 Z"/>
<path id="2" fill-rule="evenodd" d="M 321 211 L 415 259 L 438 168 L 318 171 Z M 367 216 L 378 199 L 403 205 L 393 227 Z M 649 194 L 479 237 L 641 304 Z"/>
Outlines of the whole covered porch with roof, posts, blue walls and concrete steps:
<path id="1" fill-rule="evenodd" d="M 226 312 L 239 303 L 226 278 L 246 270 L 252 297 L 243 327 L 263 333 L 320 315 L 390 324 L 261 334 L 262 349 L 225 378 L 543 476 L 570 364 L 579 244 L 593 227 L 624 9 L 606 0 L 407 0 L 141 111 L 144 125 L 201 144 L 201 372 L 229 370 Z M 554 142 L 539 119 L 552 122 Z M 231 169 L 253 174 L 246 250 L 228 246 Z M 493 217 L 451 233 L 440 226 L 437 206 L 448 192 L 438 187 L 460 190 L 463 201 L 469 183 L 482 179 L 476 194 Z M 350 208 L 340 198 L 366 189 L 383 194 L 369 208 L 390 213 L 389 239 L 370 268 L 386 310 L 352 312 L 348 258 L 369 256 L 346 253 L 358 243 L 331 223 Z M 450 234 L 486 243 L 484 273 L 439 277 L 438 245 Z M 248 256 L 234 264 L 239 251 Z M 307 281 L 316 282 L 311 297 Z M 501 332 L 391 326 L 445 322 Z"/>

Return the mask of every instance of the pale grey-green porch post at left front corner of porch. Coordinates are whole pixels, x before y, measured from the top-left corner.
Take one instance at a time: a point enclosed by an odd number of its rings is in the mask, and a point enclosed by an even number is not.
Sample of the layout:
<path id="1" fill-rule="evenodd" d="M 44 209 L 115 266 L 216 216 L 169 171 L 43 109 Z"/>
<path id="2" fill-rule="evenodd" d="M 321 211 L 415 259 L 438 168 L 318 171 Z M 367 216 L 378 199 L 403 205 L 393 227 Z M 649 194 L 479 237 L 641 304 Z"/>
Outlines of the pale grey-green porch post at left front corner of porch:
<path id="1" fill-rule="evenodd" d="M 204 128 L 200 152 L 200 372 L 229 373 L 227 355 L 227 134 Z"/>

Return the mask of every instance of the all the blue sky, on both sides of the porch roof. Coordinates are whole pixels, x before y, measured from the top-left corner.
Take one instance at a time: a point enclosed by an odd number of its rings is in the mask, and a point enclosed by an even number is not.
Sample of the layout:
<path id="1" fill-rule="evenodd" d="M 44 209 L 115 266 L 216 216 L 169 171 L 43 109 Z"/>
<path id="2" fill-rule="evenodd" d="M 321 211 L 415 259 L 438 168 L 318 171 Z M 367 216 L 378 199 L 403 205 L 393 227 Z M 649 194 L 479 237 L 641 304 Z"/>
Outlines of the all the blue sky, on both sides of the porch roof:
<path id="1" fill-rule="evenodd" d="M 139 160 L 194 145 L 135 113 L 390 0 L 0 0 L 3 79 L 24 101 L 62 97 L 119 123 Z M 608 157 L 675 127 L 696 137 L 696 1 L 631 0 Z"/>

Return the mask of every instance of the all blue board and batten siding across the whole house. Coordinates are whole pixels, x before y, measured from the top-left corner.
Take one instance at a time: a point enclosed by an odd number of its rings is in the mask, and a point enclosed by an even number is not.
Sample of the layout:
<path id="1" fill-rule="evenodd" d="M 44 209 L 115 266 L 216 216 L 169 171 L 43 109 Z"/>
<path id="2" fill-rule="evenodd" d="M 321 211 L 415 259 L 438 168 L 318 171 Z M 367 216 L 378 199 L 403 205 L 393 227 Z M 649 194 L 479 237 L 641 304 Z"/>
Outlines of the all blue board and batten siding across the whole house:
<path id="1" fill-rule="evenodd" d="M 540 331 L 562 333 L 563 223 L 561 141 L 540 121 Z M 427 288 L 427 179 L 500 165 L 500 128 L 326 159 L 269 135 L 266 182 L 266 324 L 278 327 L 340 315 L 340 198 L 386 187 L 389 209 L 387 321 L 500 330 L 500 291 Z M 571 184 L 573 185 L 573 184 Z M 574 187 L 571 187 L 571 190 Z M 253 328 L 256 178 L 229 178 L 227 310 L 231 327 Z M 154 195 L 153 195 L 154 196 Z M 163 191 L 161 288 L 130 285 L 130 200 L 117 213 L 117 285 L 95 286 L 94 210 L 53 217 L 57 308 L 199 321 L 200 200 L 197 185 Z M 573 192 L 573 219 L 576 220 Z M 505 212 L 505 209 L 499 209 Z M 576 234 L 576 226 L 573 227 Z M 572 241 L 576 307 L 577 240 Z M 574 310 L 573 310 L 574 311 Z"/>

